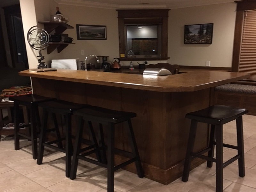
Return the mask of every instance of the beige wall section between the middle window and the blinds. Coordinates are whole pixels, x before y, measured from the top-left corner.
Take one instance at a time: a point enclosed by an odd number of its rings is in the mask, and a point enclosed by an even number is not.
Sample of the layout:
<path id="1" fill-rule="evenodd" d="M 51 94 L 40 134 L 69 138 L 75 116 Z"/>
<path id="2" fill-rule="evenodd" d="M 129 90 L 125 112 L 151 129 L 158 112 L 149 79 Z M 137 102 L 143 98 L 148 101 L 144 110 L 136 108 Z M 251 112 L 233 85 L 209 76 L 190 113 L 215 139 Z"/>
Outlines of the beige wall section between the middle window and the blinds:
<path id="1" fill-rule="evenodd" d="M 236 3 L 169 11 L 169 63 L 189 66 L 231 67 Z M 184 44 L 184 25 L 213 23 L 212 44 Z"/>

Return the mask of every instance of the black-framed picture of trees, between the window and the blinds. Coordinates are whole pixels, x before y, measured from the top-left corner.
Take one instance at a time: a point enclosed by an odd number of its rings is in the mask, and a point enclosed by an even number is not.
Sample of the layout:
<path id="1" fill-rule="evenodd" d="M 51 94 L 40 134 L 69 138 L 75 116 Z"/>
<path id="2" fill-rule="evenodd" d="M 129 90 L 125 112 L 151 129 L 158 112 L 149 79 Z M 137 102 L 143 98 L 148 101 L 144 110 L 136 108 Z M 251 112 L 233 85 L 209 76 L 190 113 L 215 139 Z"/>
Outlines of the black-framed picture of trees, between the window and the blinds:
<path id="1" fill-rule="evenodd" d="M 212 44 L 213 23 L 185 25 L 184 44 Z"/>

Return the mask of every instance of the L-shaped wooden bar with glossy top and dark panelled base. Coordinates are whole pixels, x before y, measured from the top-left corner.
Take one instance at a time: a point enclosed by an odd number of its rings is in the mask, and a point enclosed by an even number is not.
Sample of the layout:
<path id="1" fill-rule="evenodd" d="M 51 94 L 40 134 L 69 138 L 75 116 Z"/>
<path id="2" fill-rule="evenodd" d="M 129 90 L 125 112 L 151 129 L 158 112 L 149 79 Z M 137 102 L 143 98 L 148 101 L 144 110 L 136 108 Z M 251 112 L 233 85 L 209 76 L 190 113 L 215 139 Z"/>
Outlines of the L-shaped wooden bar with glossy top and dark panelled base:
<path id="1" fill-rule="evenodd" d="M 19 72 L 32 77 L 33 92 L 76 103 L 131 111 L 140 157 L 147 178 L 168 184 L 179 178 L 187 147 L 190 121 L 185 114 L 212 105 L 213 88 L 248 78 L 249 74 L 196 71 L 171 76 L 143 76 L 58 69 L 33 73 Z M 206 124 L 198 124 L 195 149 L 207 144 Z M 116 129 L 116 148 L 128 148 L 122 126 Z M 116 162 L 124 160 L 117 155 Z M 195 159 L 192 168 L 203 161 Z M 136 172 L 132 164 L 127 170 Z"/>

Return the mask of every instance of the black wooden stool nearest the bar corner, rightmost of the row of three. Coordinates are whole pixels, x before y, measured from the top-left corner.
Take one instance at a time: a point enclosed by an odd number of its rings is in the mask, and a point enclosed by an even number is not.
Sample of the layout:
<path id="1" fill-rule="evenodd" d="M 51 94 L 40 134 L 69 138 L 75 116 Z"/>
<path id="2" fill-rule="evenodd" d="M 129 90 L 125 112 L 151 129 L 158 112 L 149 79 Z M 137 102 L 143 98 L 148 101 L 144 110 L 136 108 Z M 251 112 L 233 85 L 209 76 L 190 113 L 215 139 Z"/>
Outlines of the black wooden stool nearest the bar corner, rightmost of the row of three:
<path id="1" fill-rule="evenodd" d="M 110 110 L 106 108 L 100 108 L 95 106 L 90 106 L 88 108 L 78 109 L 74 111 L 74 115 L 80 116 L 80 126 L 78 128 L 77 134 L 76 134 L 76 141 L 74 146 L 74 154 L 72 159 L 72 166 L 71 166 L 71 173 L 70 173 L 70 179 L 76 178 L 76 171 L 78 166 L 78 159 L 82 159 L 84 161 L 102 166 L 107 168 L 108 170 L 108 192 L 114 192 L 114 172 L 128 164 L 131 164 L 132 162 L 135 162 L 136 169 L 138 172 L 138 175 L 140 178 L 144 177 L 144 173 L 142 170 L 141 162 L 140 162 L 140 156 L 137 149 L 133 129 L 132 129 L 132 123 L 131 118 L 136 117 L 136 113 L 132 112 L 124 112 L 124 111 L 116 111 L 116 110 Z M 84 121 L 89 122 L 89 126 L 91 127 L 91 122 L 96 122 L 100 124 L 99 131 L 101 135 L 101 145 L 100 148 L 103 151 L 103 158 L 102 162 L 95 161 L 91 158 L 88 158 L 86 156 L 92 154 L 91 151 L 84 152 L 84 148 L 81 148 L 81 139 L 83 135 L 83 123 Z M 128 123 L 128 133 L 129 133 L 129 139 L 131 142 L 131 149 L 132 153 L 124 150 L 120 150 L 117 148 L 114 148 L 115 146 L 115 124 L 121 123 L 121 122 L 127 122 Z M 107 125 L 107 146 L 105 146 L 104 143 L 104 137 L 103 137 L 103 128 L 102 124 Z M 105 157 L 105 150 L 107 148 L 107 162 Z M 97 149 L 94 149 L 93 152 L 97 151 Z M 115 166 L 115 158 L 114 154 L 115 152 L 122 152 L 124 155 L 127 155 L 131 159 L 128 161 L 116 165 Z M 80 154 L 82 153 L 82 154 Z"/>

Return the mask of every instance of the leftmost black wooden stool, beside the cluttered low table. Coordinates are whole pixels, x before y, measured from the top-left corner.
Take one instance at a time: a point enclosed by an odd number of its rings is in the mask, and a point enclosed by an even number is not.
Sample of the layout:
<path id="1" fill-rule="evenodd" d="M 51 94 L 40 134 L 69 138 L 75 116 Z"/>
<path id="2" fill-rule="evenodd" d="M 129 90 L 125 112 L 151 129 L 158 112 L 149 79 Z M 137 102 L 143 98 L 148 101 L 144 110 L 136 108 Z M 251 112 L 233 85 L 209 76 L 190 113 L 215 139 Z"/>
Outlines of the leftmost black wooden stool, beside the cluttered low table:
<path id="1" fill-rule="evenodd" d="M 55 98 L 43 97 L 36 94 L 20 95 L 10 97 L 9 100 L 14 101 L 14 148 L 15 150 L 20 149 L 20 136 L 25 137 L 32 142 L 32 154 L 33 159 L 37 158 L 37 132 L 40 130 L 40 117 L 38 112 L 38 104 L 50 100 L 55 100 Z M 30 124 L 25 124 L 20 126 L 20 113 L 19 105 L 26 106 L 29 112 Z M 23 114 L 25 116 L 25 114 Z M 20 132 L 21 128 L 30 127 L 30 134 L 26 135 Z"/>

